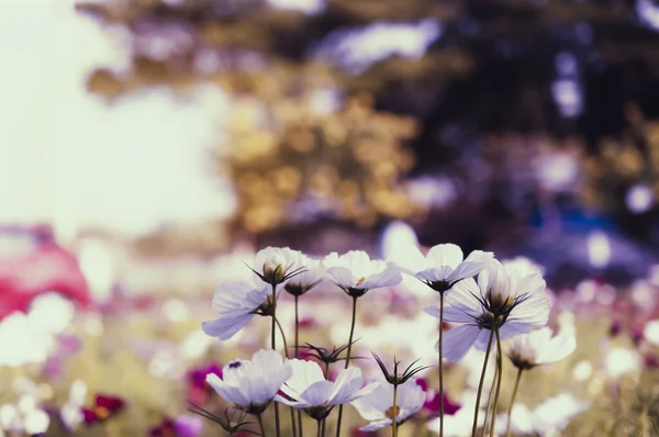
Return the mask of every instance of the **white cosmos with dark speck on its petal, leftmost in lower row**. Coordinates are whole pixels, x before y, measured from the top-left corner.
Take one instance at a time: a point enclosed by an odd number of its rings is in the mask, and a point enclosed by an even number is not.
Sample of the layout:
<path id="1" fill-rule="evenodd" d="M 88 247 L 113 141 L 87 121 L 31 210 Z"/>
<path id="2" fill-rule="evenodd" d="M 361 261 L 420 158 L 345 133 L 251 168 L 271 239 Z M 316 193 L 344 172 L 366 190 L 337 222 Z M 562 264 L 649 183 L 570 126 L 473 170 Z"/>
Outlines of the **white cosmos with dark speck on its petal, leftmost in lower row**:
<path id="1" fill-rule="evenodd" d="M 275 397 L 281 384 L 291 377 L 289 361 L 271 349 L 261 349 L 252 360 L 234 360 L 222 368 L 222 379 L 215 373 L 206 382 L 225 401 L 248 413 L 261 413 Z"/>

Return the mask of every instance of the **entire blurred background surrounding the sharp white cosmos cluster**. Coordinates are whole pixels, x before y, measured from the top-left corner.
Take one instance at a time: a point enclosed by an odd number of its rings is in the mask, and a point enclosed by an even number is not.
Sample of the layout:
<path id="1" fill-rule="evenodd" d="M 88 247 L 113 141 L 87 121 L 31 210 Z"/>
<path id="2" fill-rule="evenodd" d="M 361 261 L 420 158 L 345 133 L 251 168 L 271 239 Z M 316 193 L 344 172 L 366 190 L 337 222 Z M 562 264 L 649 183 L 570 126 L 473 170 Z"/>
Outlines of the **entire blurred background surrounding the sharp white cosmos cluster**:
<path id="1" fill-rule="evenodd" d="M 226 344 L 200 329 L 261 247 L 450 242 L 527 257 L 557 321 L 587 321 L 538 370 L 545 395 L 632 396 L 592 417 L 648 432 L 658 33 L 654 0 L 0 0 L 0 428 L 179 417 L 193 369 L 265 346 L 265 322 Z M 364 350 L 434 363 L 416 288 L 369 298 Z M 304 340 L 343 344 L 349 300 L 323 292 Z M 382 334 L 401 321 L 428 333 L 415 350 Z M 604 435 L 592 417 L 568 435 Z"/>

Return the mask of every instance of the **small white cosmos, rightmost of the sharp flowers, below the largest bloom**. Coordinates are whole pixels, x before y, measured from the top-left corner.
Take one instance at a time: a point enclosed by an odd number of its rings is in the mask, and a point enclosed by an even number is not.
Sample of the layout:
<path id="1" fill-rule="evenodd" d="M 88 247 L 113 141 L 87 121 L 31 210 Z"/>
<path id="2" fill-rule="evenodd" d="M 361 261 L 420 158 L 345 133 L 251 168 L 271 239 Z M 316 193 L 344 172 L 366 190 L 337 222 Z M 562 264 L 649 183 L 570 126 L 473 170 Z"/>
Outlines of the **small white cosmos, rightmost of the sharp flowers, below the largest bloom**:
<path id="1" fill-rule="evenodd" d="M 513 365 L 523 370 L 549 365 L 562 360 L 577 348 L 573 330 L 565 329 L 554 337 L 551 334 L 551 328 L 545 326 L 511 338 L 506 348 Z"/>

